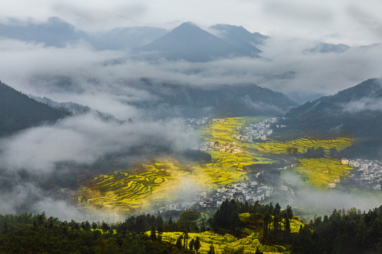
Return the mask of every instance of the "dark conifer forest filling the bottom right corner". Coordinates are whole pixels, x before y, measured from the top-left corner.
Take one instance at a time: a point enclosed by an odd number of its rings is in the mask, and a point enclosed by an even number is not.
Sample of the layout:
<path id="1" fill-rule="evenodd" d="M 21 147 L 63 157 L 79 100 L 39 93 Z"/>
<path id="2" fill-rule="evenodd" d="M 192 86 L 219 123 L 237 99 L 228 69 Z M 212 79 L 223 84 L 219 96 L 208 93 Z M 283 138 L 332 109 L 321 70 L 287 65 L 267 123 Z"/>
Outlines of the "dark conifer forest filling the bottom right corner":
<path id="1" fill-rule="evenodd" d="M 291 237 L 291 253 L 382 253 L 382 205 L 364 214 L 352 208 L 316 218 Z"/>

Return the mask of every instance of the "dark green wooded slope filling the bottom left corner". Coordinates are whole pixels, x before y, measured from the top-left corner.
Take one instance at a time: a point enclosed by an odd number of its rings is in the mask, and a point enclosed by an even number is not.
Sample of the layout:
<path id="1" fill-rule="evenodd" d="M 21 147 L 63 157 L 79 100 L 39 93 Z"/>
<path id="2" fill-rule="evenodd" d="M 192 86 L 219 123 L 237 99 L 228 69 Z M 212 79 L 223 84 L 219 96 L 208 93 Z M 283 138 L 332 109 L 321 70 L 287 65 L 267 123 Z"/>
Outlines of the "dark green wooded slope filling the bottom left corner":
<path id="1" fill-rule="evenodd" d="M 173 244 L 152 241 L 143 234 L 113 232 L 91 230 L 90 224 L 87 228 L 77 227 L 73 222 L 34 224 L 24 229 L 3 226 L 0 253 L 180 253 Z"/>

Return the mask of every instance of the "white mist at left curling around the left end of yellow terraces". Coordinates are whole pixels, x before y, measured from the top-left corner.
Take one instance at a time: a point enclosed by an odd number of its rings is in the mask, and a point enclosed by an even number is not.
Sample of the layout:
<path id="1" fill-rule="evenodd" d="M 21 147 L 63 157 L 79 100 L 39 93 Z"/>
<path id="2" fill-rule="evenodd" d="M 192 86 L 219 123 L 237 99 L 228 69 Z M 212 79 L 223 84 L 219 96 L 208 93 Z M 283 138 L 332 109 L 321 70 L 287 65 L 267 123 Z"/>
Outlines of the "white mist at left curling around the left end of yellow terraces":
<path id="1" fill-rule="evenodd" d="M 132 147 L 160 146 L 181 152 L 197 147 L 198 141 L 192 131 L 185 131 L 180 119 L 121 123 L 93 112 L 29 128 L 0 140 L 0 214 L 45 211 L 60 219 L 110 220 L 108 212 L 81 210 L 53 198 L 54 193 L 41 186 L 59 177 L 56 172 L 73 172 L 76 165 L 91 165 L 108 154 L 126 152 L 127 162 L 150 156 L 129 155 Z M 59 166 L 62 163 L 66 163 L 64 168 Z"/>

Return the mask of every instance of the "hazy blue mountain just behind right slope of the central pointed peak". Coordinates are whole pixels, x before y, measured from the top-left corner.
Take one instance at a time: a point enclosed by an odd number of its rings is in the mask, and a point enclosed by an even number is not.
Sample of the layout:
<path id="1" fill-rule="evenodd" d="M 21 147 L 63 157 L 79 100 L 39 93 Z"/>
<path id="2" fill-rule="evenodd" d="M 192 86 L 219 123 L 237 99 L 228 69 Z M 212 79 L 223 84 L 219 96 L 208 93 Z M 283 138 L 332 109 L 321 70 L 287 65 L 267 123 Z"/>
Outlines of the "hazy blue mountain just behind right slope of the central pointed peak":
<path id="1" fill-rule="evenodd" d="M 262 44 L 267 36 L 261 35 L 258 32 L 249 32 L 242 26 L 218 24 L 209 28 L 214 31 L 214 35 L 221 38 L 229 44 L 236 45 L 251 52 L 260 53 L 261 50 L 257 49 L 257 44 Z"/>

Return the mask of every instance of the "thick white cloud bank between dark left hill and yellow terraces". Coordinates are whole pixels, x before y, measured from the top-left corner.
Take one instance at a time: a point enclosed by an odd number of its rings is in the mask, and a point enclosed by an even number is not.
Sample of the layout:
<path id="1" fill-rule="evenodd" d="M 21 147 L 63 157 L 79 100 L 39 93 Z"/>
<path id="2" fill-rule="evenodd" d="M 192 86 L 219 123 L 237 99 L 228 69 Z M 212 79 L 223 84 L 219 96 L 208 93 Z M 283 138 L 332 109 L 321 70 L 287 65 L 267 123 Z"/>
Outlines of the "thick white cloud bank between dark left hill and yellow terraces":
<path id="1" fill-rule="evenodd" d="M 162 145 L 174 151 L 196 147 L 197 138 L 183 131 L 180 123 L 176 119 L 120 123 L 93 113 L 72 116 L 4 138 L 0 162 L 7 169 L 50 172 L 58 162 L 91 164 L 108 153 L 139 145 Z"/>

